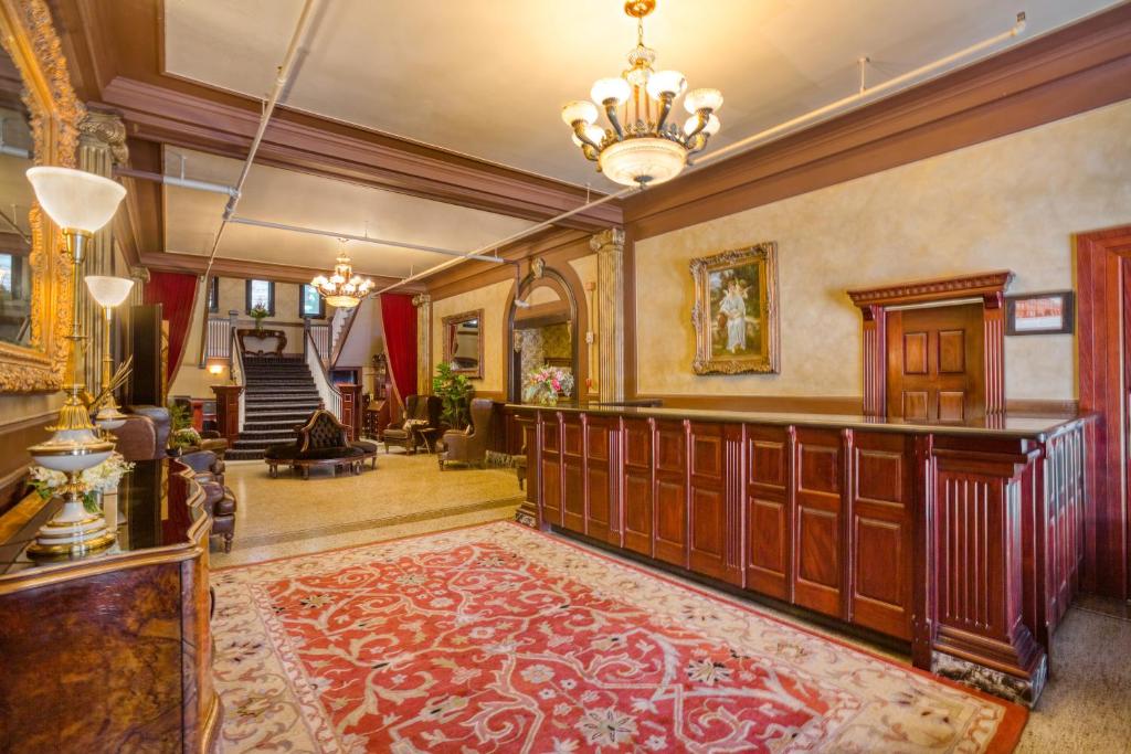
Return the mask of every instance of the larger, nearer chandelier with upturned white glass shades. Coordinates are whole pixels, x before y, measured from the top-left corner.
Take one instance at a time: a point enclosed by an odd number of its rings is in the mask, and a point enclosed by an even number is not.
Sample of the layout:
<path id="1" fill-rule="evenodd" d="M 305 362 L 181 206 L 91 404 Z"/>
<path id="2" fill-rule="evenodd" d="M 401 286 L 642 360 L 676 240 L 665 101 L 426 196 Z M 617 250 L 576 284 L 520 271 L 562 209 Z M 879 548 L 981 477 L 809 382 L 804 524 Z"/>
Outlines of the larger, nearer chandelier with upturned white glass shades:
<path id="1" fill-rule="evenodd" d="M 624 12 L 637 19 L 637 46 L 629 53 L 629 68 L 619 77 L 597 79 L 589 93 L 593 102 L 578 99 L 562 107 L 562 120 L 573 129 L 573 144 L 597 163 L 598 172 L 623 185 L 672 180 L 720 125 L 715 115 L 723 106 L 718 89 L 692 89 L 684 95 L 688 80 L 683 73 L 653 70 L 656 51 L 645 46 L 644 17 L 655 7 L 656 0 L 624 3 Z M 668 122 L 681 95 L 691 114 L 682 129 Z M 598 106 L 611 128 L 596 124 Z"/>

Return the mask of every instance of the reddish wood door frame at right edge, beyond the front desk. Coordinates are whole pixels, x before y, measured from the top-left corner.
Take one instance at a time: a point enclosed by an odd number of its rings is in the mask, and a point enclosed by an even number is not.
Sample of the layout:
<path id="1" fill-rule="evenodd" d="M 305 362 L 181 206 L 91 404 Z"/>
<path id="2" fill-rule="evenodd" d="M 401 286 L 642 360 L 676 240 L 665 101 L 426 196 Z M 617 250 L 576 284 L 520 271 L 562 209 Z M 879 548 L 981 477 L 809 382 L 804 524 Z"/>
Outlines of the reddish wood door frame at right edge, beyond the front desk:
<path id="1" fill-rule="evenodd" d="M 1131 226 L 1078 233 L 1077 354 L 1080 411 L 1095 413 L 1090 443 L 1083 588 L 1131 598 L 1131 501 L 1128 495 L 1128 350 L 1125 280 L 1131 276 Z M 1114 427 L 1120 427 L 1116 434 Z"/>

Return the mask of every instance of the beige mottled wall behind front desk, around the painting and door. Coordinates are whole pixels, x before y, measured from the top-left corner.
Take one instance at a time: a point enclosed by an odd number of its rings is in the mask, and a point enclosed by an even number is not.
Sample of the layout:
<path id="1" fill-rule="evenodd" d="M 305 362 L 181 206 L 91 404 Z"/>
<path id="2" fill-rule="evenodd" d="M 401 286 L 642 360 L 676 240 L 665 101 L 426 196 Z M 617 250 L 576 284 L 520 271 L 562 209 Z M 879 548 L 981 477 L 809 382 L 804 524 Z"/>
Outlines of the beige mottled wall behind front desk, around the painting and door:
<path id="1" fill-rule="evenodd" d="M 861 396 L 846 289 L 1003 268 L 1010 293 L 1072 288 L 1071 234 L 1131 223 L 1129 135 L 1131 102 L 638 243 L 638 391 Z M 688 261 L 760 241 L 778 243 L 782 373 L 697 376 Z M 1007 338 L 1007 397 L 1074 398 L 1074 355 L 1072 336 Z"/>

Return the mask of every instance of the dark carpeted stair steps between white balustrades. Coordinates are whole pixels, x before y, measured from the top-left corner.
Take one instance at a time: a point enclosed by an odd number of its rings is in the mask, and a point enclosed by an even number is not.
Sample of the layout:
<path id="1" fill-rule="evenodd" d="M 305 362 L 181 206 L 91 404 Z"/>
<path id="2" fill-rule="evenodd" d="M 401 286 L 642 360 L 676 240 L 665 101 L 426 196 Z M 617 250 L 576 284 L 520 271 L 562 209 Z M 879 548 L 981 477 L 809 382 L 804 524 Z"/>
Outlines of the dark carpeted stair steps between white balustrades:
<path id="1" fill-rule="evenodd" d="M 302 356 L 245 355 L 243 375 L 243 431 L 225 453 L 232 461 L 260 459 L 269 445 L 294 442 L 294 426 L 321 401 Z"/>

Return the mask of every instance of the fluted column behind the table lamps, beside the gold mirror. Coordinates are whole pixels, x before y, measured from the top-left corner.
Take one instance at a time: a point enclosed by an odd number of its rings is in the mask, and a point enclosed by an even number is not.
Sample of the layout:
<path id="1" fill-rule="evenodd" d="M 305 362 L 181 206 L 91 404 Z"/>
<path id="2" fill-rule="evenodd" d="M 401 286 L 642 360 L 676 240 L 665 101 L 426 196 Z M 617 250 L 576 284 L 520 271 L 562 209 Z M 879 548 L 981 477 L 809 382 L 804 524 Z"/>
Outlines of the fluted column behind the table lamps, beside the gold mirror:
<path id="1" fill-rule="evenodd" d="M 115 165 L 124 165 L 130 153 L 126 147 L 126 124 L 118 115 L 87 111 L 78 123 L 78 168 L 103 177 L 113 177 Z M 107 223 L 87 244 L 85 275 L 115 275 L 113 223 Z M 86 336 L 86 383 L 100 383 L 103 353 L 102 310 L 86 292 L 79 292 L 83 306 L 79 331 Z M 111 339 L 113 343 L 113 339 Z"/>

